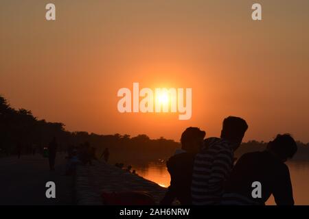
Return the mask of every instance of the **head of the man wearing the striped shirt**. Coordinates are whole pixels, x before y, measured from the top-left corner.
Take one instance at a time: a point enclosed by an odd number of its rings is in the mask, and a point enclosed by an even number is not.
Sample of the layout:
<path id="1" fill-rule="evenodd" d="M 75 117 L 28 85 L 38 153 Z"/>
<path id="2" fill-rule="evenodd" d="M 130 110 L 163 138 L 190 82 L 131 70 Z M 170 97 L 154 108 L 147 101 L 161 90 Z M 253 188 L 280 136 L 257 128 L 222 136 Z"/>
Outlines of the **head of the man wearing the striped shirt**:
<path id="1" fill-rule="evenodd" d="M 225 138 L 233 144 L 234 150 L 238 149 L 248 125 L 242 118 L 229 116 L 223 120 L 221 138 Z"/>

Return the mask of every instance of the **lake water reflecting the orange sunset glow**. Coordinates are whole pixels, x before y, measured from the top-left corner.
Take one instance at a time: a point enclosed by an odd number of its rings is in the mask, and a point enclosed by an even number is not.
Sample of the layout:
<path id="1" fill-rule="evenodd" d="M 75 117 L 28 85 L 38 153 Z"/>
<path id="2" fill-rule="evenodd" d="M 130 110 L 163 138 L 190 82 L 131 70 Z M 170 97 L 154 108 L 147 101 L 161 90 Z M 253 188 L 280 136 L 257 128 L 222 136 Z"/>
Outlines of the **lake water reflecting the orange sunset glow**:
<path id="1" fill-rule="evenodd" d="M 309 205 L 309 162 L 287 162 L 293 185 L 295 205 Z M 154 181 L 163 187 L 170 185 L 170 175 L 164 161 L 133 164 L 141 177 Z M 275 205 L 273 196 L 266 205 Z"/>

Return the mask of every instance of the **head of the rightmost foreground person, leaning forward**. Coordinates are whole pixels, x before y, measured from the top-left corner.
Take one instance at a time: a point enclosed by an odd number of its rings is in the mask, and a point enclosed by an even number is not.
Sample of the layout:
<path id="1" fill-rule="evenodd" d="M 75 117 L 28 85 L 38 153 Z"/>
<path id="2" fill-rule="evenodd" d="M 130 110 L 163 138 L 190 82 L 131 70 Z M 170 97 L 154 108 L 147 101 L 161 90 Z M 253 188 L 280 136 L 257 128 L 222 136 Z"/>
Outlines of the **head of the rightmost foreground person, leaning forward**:
<path id="1" fill-rule="evenodd" d="M 279 134 L 275 140 L 267 144 L 267 149 L 283 162 L 286 162 L 288 158 L 292 158 L 295 155 L 297 144 L 290 134 Z"/>

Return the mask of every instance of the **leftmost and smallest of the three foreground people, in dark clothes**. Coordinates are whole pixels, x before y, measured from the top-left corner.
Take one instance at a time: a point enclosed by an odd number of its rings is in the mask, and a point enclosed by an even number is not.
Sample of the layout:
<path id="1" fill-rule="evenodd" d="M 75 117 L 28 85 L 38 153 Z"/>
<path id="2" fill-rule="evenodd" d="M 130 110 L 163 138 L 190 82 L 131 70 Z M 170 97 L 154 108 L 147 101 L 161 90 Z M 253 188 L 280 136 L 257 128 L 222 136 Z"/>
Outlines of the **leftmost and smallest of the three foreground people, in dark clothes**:
<path id="1" fill-rule="evenodd" d="M 196 127 L 189 127 L 181 135 L 181 150 L 176 150 L 166 163 L 171 180 L 161 205 L 171 205 L 175 198 L 181 205 L 192 204 L 191 183 L 194 156 L 201 150 L 205 134 L 205 131 Z"/>

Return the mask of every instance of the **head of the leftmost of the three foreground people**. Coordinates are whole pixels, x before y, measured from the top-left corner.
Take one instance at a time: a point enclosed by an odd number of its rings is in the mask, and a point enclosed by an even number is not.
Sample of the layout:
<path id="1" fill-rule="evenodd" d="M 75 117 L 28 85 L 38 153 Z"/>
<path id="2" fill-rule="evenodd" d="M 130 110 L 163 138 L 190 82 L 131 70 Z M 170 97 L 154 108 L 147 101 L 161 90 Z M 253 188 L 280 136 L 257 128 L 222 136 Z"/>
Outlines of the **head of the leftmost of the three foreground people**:
<path id="1" fill-rule="evenodd" d="M 181 135 L 181 148 L 190 153 L 198 153 L 203 145 L 205 135 L 205 131 L 196 127 L 185 129 Z"/>

